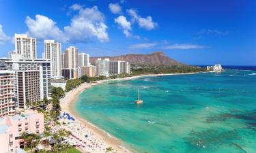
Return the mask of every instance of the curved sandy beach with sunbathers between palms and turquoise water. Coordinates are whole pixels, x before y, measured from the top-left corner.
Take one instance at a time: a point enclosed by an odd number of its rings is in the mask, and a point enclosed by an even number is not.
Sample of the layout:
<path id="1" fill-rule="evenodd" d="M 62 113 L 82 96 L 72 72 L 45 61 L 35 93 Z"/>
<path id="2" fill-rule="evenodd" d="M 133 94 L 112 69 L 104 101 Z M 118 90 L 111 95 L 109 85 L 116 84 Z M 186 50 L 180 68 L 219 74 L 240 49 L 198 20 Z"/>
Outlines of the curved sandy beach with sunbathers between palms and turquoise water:
<path id="1" fill-rule="evenodd" d="M 151 76 L 163 76 L 163 75 L 184 75 L 184 74 L 194 74 L 194 73 L 170 73 L 170 74 L 149 74 L 149 75 L 139 75 L 128 78 L 116 78 L 112 80 L 101 80 L 94 83 L 83 83 L 81 86 L 66 92 L 66 96 L 63 99 L 60 99 L 61 103 L 61 112 L 70 114 L 74 121 L 70 121 L 68 119 L 61 119 L 61 122 L 65 122 L 63 124 L 63 128 L 67 131 L 70 131 L 72 135 L 68 137 L 70 141 L 73 141 L 75 144 L 79 144 L 79 150 L 81 152 L 97 152 L 104 153 L 106 152 L 106 148 L 113 148 L 113 152 L 132 152 L 132 150 L 128 150 L 124 147 L 124 144 L 121 140 L 111 136 L 109 133 L 106 133 L 102 129 L 99 129 L 91 122 L 81 118 L 73 109 L 73 105 L 76 102 L 76 98 L 80 95 L 84 90 L 91 88 L 91 86 L 96 86 L 97 84 L 104 84 L 104 82 L 108 81 L 118 81 L 118 80 L 134 80 L 142 77 L 151 77 Z"/>

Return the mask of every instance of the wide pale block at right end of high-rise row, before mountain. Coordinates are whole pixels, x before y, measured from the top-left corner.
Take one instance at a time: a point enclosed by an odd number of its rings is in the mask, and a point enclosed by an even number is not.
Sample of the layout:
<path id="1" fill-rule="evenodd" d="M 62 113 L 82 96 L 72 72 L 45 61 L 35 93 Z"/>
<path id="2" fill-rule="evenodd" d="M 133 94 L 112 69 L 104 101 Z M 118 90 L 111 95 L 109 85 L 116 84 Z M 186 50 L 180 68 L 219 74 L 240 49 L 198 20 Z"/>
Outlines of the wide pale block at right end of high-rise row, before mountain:
<path id="1" fill-rule="evenodd" d="M 109 74 L 130 73 L 130 64 L 126 61 L 109 61 Z"/>

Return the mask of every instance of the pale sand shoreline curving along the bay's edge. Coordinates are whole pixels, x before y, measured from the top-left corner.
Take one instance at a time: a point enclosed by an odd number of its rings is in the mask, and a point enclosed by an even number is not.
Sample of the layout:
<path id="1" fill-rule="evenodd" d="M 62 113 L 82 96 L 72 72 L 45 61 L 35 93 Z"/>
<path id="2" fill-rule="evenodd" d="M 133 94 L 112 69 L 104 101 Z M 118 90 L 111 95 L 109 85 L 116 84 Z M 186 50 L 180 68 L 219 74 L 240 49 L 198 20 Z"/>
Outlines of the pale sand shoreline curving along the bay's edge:
<path id="1" fill-rule="evenodd" d="M 154 77 L 154 76 L 165 76 L 165 75 L 188 75 L 188 74 L 195 74 L 195 73 L 167 73 L 167 74 L 147 74 L 147 75 L 137 75 L 127 78 L 116 78 L 116 79 L 110 79 L 110 80 L 100 80 L 93 83 L 83 83 L 79 87 L 74 88 L 70 90 L 69 92 L 66 92 L 66 96 L 63 99 L 60 99 L 61 104 L 61 112 L 68 112 L 70 116 L 73 116 L 76 120 L 76 122 L 72 122 L 74 124 L 74 127 L 81 128 L 81 132 L 87 131 L 87 133 L 90 133 L 92 140 L 88 140 L 85 137 L 80 136 L 79 139 L 82 139 L 87 144 L 89 143 L 91 148 L 79 148 L 82 152 L 106 152 L 106 148 L 112 147 L 114 149 L 114 152 L 132 152 L 132 150 L 127 149 L 124 147 L 124 143 L 122 143 L 122 140 L 117 139 L 110 135 L 109 133 L 106 133 L 104 130 L 98 128 L 91 122 L 88 122 L 84 118 L 82 118 L 77 112 L 74 110 L 74 104 L 77 101 L 77 97 L 83 92 L 84 90 L 91 88 L 92 86 L 96 86 L 98 84 L 104 84 L 105 82 L 109 81 L 119 81 L 119 80 L 135 80 L 138 78 L 143 77 Z M 61 120 L 62 122 L 66 122 L 66 120 Z M 77 135 L 73 127 L 69 126 L 70 121 L 67 122 L 68 124 L 64 125 L 64 129 L 71 131 L 73 135 Z M 93 146 L 96 144 L 96 146 Z"/>

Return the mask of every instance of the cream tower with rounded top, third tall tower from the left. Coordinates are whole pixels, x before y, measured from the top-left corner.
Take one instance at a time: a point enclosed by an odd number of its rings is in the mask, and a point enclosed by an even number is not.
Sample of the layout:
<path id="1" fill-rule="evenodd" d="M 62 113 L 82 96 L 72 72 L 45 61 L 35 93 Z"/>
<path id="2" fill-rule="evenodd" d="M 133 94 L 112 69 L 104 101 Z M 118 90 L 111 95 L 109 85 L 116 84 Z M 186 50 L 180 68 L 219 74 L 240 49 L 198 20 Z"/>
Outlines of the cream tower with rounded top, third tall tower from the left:
<path id="1" fill-rule="evenodd" d="M 76 69 L 78 67 L 78 52 L 79 49 L 74 46 L 70 46 L 65 50 L 65 69 Z"/>

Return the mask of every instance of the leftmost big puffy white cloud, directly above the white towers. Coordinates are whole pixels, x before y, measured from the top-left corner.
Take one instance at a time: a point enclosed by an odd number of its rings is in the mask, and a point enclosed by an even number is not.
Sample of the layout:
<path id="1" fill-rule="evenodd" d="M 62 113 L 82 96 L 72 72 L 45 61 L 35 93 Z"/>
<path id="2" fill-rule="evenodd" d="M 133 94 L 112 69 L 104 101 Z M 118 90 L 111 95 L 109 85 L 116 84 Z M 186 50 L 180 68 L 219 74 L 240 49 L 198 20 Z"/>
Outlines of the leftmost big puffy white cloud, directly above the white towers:
<path id="1" fill-rule="evenodd" d="M 51 18 L 37 14 L 35 15 L 35 20 L 27 16 L 25 23 L 29 28 L 27 33 L 31 35 L 31 37 L 38 39 L 56 39 L 61 42 L 66 41 L 63 32 Z"/>

